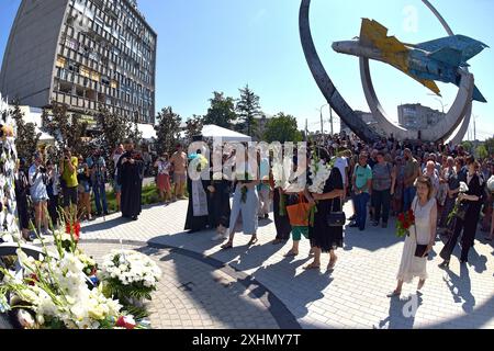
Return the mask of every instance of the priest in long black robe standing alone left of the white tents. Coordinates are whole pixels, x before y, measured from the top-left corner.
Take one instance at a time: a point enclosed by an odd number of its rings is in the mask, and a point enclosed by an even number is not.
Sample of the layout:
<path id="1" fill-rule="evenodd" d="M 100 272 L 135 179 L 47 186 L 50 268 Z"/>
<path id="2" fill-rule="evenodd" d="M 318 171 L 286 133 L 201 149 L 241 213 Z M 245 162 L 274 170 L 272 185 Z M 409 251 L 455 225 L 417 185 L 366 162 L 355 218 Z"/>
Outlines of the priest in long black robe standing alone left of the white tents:
<path id="1" fill-rule="evenodd" d="M 142 211 L 144 160 L 141 152 L 134 150 L 134 143 L 125 140 L 125 152 L 116 163 L 117 181 L 122 186 L 122 217 L 137 220 Z"/>

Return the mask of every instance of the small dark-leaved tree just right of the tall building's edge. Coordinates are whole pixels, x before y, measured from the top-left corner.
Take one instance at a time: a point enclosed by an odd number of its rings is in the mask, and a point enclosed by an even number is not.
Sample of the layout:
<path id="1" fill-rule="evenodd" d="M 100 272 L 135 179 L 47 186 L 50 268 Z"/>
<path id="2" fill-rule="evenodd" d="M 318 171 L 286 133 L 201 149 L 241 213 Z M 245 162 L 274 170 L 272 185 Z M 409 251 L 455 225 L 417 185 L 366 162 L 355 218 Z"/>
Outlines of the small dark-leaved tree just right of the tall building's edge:
<path id="1" fill-rule="evenodd" d="M 171 106 L 158 112 L 156 118 L 158 121 L 158 124 L 155 126 L 157 138 L 156 149 L 158 154 L 165 151 L 171 154 L 180 137 L 180 124 L 182 123 L 182 118 L 179 114 L 173 112 Z"/>

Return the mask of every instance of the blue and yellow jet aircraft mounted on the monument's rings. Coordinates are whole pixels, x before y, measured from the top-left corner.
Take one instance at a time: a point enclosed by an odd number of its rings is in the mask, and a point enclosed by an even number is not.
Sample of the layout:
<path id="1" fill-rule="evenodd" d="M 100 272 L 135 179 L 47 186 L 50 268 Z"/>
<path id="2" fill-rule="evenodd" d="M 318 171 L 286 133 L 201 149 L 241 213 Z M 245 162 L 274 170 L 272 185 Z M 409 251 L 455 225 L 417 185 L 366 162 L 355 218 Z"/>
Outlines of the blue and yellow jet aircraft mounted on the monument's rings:
<path id="1" fill-rule="evenodd" d="M 487 45 L 464 35 L 447 36 L 422 44 L 405 44 L 388 36 L 388 29 L 377 21 L 362 19 L 358 41 L 336 42 L 333 49 L 340 54 L 367 57 L 389 64 L 440 95 L 437 81 L 460 84 L 460 70 L 467 61 Z M 487 102 L 479 89 L 473 100 Z"/>

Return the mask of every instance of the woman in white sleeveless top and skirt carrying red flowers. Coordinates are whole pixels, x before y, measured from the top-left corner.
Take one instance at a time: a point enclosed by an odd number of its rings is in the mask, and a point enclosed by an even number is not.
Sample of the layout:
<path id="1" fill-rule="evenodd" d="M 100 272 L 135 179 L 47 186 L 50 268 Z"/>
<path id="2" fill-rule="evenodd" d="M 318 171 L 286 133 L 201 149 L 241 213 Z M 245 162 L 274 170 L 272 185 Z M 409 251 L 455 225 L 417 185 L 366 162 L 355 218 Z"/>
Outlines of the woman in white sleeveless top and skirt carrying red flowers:
<path id="1" fill-rule="evenodd" d="M 412 203 L 415 225 L 411 226 L 405 238 L 402 262 L 396 276 L 397 286 L 388 297 L 400 296 L 403 283 L 412 283 L 418 276 L 419 291 L 427 279 L 427 256 L 436 239 L 437 202 L 433 197 L 433 183 L 428 177 L 419 177 L 416 182 L 417 196 Z M 424 250 L 420 250 L 420 246 Z"/>

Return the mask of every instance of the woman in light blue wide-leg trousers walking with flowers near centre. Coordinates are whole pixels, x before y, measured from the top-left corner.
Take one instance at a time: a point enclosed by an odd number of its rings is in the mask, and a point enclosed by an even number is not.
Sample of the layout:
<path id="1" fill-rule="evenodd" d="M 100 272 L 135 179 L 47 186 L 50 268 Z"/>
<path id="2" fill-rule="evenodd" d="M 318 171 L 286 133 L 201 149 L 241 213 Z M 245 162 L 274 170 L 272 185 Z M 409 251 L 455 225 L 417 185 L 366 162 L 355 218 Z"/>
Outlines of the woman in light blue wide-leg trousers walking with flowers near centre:
<path id="1" fill-rule="evenodd" d="M 248 152 L 247 152 L 248 154 Z M 254 154 L 256 155 L 256 154 Z M 232 204 L 232 214 L 229 217 L 229 239 L 222 249 L 233 248 L 233 240 L 235 233 L 239 231 L 240 223 L 245 235 L 250 235 L 251 239 L 249 246 L 255 245 L 257 240 L 258 228 L 258 206 L 259 197 L 257 193 L 257 185 L 259 176 L 256 165 L 257 157 L 249 157 L 246 155 L 244 165 L 236 165 L 236 185 Z M 256 176 L 256 177 L 255 177 Z"/>

